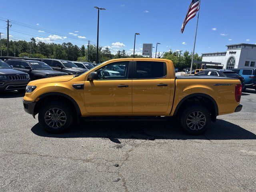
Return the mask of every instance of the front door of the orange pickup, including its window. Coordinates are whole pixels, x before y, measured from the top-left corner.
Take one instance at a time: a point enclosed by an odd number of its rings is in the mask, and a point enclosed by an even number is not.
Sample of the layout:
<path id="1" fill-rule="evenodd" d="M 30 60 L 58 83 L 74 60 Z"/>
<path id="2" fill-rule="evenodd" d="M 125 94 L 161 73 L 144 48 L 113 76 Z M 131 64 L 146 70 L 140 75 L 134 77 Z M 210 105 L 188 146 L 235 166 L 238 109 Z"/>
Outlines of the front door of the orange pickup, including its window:
<path id="1" fill-rule="evenodd" d="M 91 114 L 132 114 L 129 61 L 112 62 L 94 70 L 99 79 L 84 83 L 86 111 Z"/>

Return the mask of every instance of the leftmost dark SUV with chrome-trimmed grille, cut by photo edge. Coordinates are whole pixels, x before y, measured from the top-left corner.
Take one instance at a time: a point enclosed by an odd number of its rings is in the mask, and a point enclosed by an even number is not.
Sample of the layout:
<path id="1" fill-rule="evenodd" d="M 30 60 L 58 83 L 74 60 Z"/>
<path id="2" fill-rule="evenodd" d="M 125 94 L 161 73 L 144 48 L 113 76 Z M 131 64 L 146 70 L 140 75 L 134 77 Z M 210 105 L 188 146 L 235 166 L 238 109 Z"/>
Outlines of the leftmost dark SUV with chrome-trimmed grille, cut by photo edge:
<path id="1" fill-rule="evenodd" d="M 18 90 L 24 92 L 29 82 L 29 75 L 14 70 L 6 62 L 0 60 L 0 90 Z"/>

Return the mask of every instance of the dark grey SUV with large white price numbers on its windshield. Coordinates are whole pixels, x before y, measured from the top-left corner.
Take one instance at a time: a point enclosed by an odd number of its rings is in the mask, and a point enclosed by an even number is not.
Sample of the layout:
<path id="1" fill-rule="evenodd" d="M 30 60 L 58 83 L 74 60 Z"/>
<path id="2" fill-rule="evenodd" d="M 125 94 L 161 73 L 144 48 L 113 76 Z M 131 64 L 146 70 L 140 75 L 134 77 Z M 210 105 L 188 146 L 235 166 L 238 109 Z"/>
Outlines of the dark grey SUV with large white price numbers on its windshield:
<path id="1" fill-rule="evenodd" d="M 36 60 L 9 59 L 6 63 L 12 65 L 16 70 L 28 73 L 31 80 L 68 75 L 64 72 L 54 71 L 46 63 Z"/>

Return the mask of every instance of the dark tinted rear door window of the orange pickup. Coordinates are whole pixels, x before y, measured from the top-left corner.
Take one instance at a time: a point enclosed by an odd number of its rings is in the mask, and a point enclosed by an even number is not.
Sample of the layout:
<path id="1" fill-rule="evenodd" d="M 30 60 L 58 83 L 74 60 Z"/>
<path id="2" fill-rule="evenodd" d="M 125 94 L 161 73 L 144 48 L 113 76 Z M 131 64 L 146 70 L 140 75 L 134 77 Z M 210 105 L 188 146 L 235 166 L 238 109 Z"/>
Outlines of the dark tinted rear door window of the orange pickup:
<path id="1" fill-rule="evenodd" d="M 154 79 L 165 77 L 167 68 L 165 62 L 137 61 L 136 78 L 137 79 Z"/>

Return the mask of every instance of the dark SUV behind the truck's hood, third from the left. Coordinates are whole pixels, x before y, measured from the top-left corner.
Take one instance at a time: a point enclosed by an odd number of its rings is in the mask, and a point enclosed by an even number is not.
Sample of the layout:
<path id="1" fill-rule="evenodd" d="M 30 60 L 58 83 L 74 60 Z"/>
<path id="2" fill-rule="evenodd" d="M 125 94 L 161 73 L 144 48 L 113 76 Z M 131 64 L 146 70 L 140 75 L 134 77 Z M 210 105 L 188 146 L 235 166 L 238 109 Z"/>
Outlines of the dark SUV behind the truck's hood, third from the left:
<path id="1" fill-rule="evenodd" d="M 66 72 L 69 75 L 79 75 L 85 72 L 84 69 L 78 68 L 78 66 L 70 61 L 60 59 L 42 59 L 41 61 L 51 66 L 54 70 Z"/>

